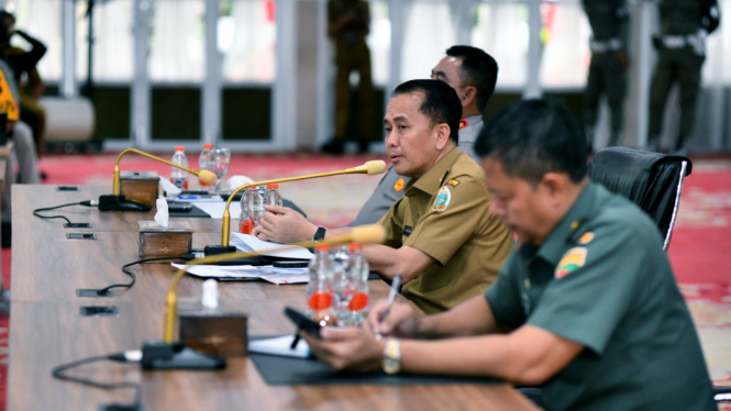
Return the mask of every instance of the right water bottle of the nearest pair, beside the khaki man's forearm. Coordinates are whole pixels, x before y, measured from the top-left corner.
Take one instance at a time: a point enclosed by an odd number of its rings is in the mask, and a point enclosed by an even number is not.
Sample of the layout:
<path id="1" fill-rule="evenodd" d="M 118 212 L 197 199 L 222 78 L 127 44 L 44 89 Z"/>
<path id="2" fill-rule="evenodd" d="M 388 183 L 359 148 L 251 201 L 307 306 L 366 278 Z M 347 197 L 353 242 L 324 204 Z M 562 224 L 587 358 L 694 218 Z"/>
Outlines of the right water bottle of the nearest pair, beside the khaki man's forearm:
<path id="1" fill-rule="evenodd" d="M 348 279 L 348 302 L 347 312 L 350 313 L 348 325 L 361 325 L 366 319 L 368 309 L 368 275 L 370 267 L 363 255 L 363 244 L 352 243 L 348 246 L 350 264 L 347 267 Z"/>

